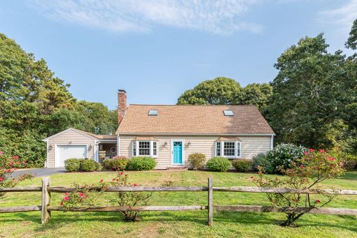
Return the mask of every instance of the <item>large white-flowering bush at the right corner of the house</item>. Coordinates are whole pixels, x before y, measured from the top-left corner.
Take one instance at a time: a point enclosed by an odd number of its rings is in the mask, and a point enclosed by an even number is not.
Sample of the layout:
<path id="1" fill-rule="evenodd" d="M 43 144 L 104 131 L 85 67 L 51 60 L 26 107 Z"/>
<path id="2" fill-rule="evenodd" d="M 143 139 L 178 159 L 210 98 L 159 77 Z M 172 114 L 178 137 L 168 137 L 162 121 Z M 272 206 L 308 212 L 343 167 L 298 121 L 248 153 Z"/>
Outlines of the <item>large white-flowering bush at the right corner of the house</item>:
<path id="1" fill-rule="evenodd" d="M 288 169 L 291 163 L 298 160 L 303 156 L 303 152 L 308 151 L 306 147 L 302 145 L 294 144 L 279 144 L 274 147 L 273 150 L 269 150 L 266 153 L 266 172 L 269 174 L 278 174 L 280 172 L 280 167 L 283 169 Z"/>

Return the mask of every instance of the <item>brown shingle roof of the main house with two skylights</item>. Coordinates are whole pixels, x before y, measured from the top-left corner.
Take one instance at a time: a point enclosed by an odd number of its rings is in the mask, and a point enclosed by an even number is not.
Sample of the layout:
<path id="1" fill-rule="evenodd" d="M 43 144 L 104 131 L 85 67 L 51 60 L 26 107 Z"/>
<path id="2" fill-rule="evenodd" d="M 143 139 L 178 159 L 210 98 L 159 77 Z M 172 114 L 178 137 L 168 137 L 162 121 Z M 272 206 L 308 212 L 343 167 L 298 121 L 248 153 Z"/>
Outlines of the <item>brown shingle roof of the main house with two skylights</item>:
<path id="1" fill-rule="evenodd" d="M 149 110 L 158 110 L 149 116 Z M 234 116 L 224 116 L 232 110 Z M 122 134 L 274 134 L 255 106 L 137 105 L 128 107 L 117 133 Z"/>

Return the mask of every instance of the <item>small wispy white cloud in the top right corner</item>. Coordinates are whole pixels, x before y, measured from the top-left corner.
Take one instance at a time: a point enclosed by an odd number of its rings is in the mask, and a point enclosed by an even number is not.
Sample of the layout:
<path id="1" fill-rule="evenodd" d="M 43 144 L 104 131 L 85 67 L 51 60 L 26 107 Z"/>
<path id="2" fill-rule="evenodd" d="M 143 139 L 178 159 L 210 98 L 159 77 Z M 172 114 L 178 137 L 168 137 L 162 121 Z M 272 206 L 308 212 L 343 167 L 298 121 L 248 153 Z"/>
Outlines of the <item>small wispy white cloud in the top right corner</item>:
<path id="1" fill-rule="evenodd" d="M 354 20 L 357 19 L 357 0 L 350 0 L 338 8 L 320 12 L 320 16 L 323 22 L 338 24 L 343 32 L 347 32 L 351 29 Z"/>

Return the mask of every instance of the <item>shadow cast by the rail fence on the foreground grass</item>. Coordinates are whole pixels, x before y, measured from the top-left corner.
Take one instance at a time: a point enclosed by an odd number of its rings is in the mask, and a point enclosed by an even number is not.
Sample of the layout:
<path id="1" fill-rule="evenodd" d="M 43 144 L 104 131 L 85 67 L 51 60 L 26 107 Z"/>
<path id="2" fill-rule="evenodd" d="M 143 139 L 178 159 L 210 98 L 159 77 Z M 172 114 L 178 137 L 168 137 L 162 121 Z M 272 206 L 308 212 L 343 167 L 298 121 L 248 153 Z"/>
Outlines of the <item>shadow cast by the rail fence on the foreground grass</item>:
<path id="1" fill-rule="evenodd" d="M 197 214 L 200 213 L 200 214 Z M 207 226 L 207 212 L 206 211 L 197 211 L 197 212 L 145 212 L 141 213 L 140 217 L 143 218 L 142 221 L 135 222 L 137 226 L 145 226 L 150 222 L 188 222 L 193 225 L 198 226 Z M 299 227 L 333 227 L 340 228 L 344 230 L 351 230 L 352 232 L 357 232 L 357 226 L 354 226 L 356 222 L 356 217 L 352 215 L 338 215 L 342 219 L 347 220 L 345 224 L 332 224 L 328 222 L 328 219 L 319 218 L 316 222 L 311 219 L 305 219 L 301 217 L 298 220 Z M 32 221 L 37 224 L 41 224 L 41 215 L 38 213 L 17 213 L 16 217 L 8 215 L 1 216 L 1 222 L 23 222 L 23 221 Z M 268 213 L 235 213 L 228 211 L 220 211 L 214 213 L 214 224 L 216 226 L 224 224 L 245 224 L 245 225 L 276 225 L 279 226 L 279 223 L 284 220 L 284 217 L 277 219 L 271 217 Z M 67 226 L 68 224 L 76 224 L 80 222 L 120 222 L 126 224 L 122 220 L 121 213 L 60 213 L 52 212 L 52 217 L 47 224 L 35 228 L 35 231 L 46 231 L 46 230 L 57 230 L 62 226 Z M 351 224 L 350 226 L 346 225 Z M 207 226 L 208 227 L 208 226 Z"/>

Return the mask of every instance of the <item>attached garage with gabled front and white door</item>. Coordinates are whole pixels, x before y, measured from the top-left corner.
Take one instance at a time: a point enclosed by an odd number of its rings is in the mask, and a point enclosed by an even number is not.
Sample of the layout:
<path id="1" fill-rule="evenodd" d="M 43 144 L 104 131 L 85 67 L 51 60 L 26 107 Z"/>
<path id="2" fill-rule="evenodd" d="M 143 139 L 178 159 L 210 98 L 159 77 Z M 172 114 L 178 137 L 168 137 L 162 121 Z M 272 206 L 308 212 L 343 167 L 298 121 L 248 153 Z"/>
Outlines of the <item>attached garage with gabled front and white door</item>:
<path id="1" fill-rule="evenodd" d="M 92 158 L 98 161 L 100 139 L 89 132 L 69 128 L 43 141 L 47 143 L 45 167 L 64 167 L 68 158 Z"/>

